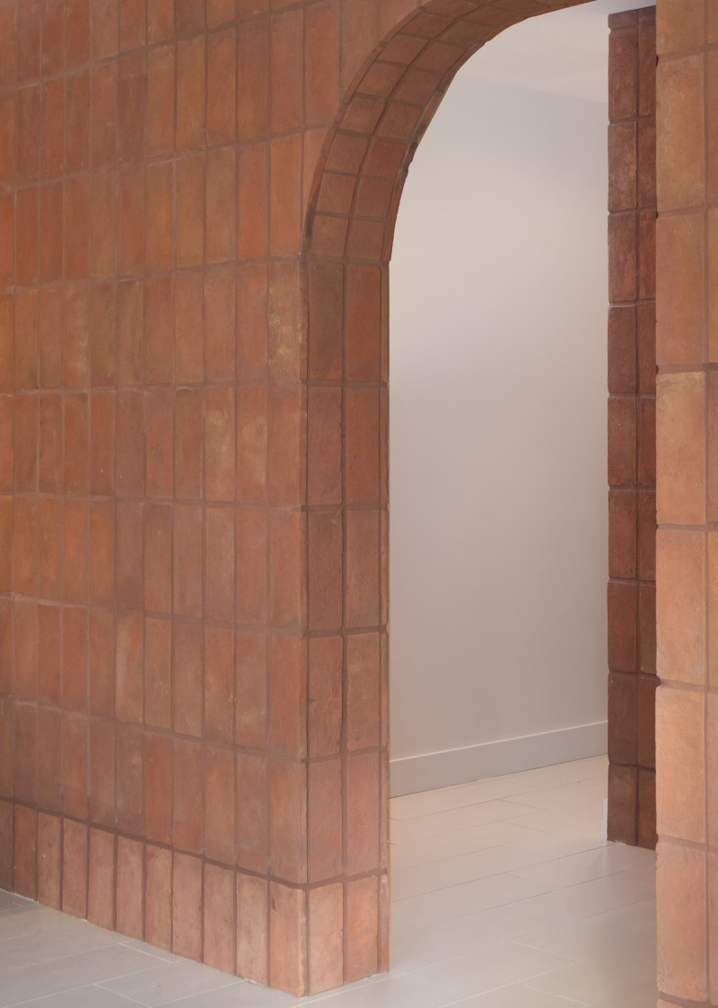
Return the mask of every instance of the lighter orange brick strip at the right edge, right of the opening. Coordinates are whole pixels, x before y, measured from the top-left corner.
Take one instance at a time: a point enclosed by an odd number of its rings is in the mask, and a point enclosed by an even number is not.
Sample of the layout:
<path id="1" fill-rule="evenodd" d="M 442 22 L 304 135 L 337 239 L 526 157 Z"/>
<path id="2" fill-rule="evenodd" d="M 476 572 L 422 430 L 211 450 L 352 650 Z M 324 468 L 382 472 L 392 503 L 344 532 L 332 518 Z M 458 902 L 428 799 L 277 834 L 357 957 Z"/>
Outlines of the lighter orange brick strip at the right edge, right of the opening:
<path id="1" fill-rule="evenodd" d="M 718 1005 L 716 4 L 660 0 L 656 41 L 659 989 Z"/>

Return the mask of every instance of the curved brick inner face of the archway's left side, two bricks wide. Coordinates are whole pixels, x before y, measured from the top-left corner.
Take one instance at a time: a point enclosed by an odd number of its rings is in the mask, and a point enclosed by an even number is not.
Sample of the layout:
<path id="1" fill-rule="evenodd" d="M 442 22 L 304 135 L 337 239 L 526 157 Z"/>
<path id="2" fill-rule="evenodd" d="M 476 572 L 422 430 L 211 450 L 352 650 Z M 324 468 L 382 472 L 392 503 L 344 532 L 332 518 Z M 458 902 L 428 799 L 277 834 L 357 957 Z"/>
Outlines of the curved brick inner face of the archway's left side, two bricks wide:
<path id="1" fill-rule="evenodd" d="M 374 50 L 345 95 L 311 191 L 307 281 L 309 849 L 331 800 L 313 786 L 313 698 L 344 698 L 343 980 L 388 968 L 388 262 L 408 165 L 459 68 L 547 0 L 435 0 Z M 324 686 L 326 689 L 326 685 Z M 317 767 L 320 766 L 318 763 Z M 314 769 L 319 781 L 321 771 Z M 315 823 L 317 824 L 315 826 Z M 320 825 L 321 824 L 321 825 Z M 312 904 L 310 949 L 315 944 Z M 328 975 L 328 971 L 325 976 Z M 335 973 L 335 980 L 338 979 Z M 316 979 L 311 975 L 310 989 Z"/>

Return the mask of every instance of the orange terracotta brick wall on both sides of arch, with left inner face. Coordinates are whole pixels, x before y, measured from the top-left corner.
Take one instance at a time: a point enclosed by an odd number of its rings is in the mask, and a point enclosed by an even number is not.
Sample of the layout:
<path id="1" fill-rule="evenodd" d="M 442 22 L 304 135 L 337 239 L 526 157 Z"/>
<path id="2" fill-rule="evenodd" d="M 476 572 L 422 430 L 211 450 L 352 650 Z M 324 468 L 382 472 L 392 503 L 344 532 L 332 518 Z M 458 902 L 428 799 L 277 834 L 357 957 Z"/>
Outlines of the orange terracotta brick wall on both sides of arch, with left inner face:
<path id="1" fill-rule="evenodd" d="M 295 993 L 386 966 L 391 231 L 455 70 L 563 6 L 0 0 L 0 884 Z M 689 14 L 659 0 L 659 895 L 664 990 L 705 1001 Z"/>

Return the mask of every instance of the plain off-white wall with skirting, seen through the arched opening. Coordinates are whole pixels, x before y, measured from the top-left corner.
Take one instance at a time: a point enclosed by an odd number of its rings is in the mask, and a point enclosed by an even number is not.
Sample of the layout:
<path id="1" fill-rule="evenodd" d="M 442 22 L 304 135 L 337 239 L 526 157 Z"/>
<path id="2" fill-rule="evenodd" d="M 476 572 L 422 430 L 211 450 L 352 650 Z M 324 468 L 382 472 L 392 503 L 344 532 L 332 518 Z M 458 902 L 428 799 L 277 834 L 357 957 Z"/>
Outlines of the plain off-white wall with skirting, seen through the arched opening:
<path id="1" fill-rule="evenodd" d="M 577 10 L 478 52 L 409 170 L 391 263 L 392 793 L 605 752 L 608 6 L 584 9 L 597 35 L 564 21 L 571 54 L 535 87 L 526 32 Z"/>

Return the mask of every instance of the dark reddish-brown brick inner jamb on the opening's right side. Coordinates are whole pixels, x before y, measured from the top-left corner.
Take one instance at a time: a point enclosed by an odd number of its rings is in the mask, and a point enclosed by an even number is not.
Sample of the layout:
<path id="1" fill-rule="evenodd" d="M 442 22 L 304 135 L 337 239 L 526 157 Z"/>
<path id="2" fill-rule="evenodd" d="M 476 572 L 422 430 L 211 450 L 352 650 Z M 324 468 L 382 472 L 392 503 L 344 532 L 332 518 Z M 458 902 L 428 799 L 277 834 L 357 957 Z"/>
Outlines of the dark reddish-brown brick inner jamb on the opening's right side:
<path id="1" fill-rule="evenodd" d="M 655 10 L 609 18 L 608 836 L 655 846 Z"/>

